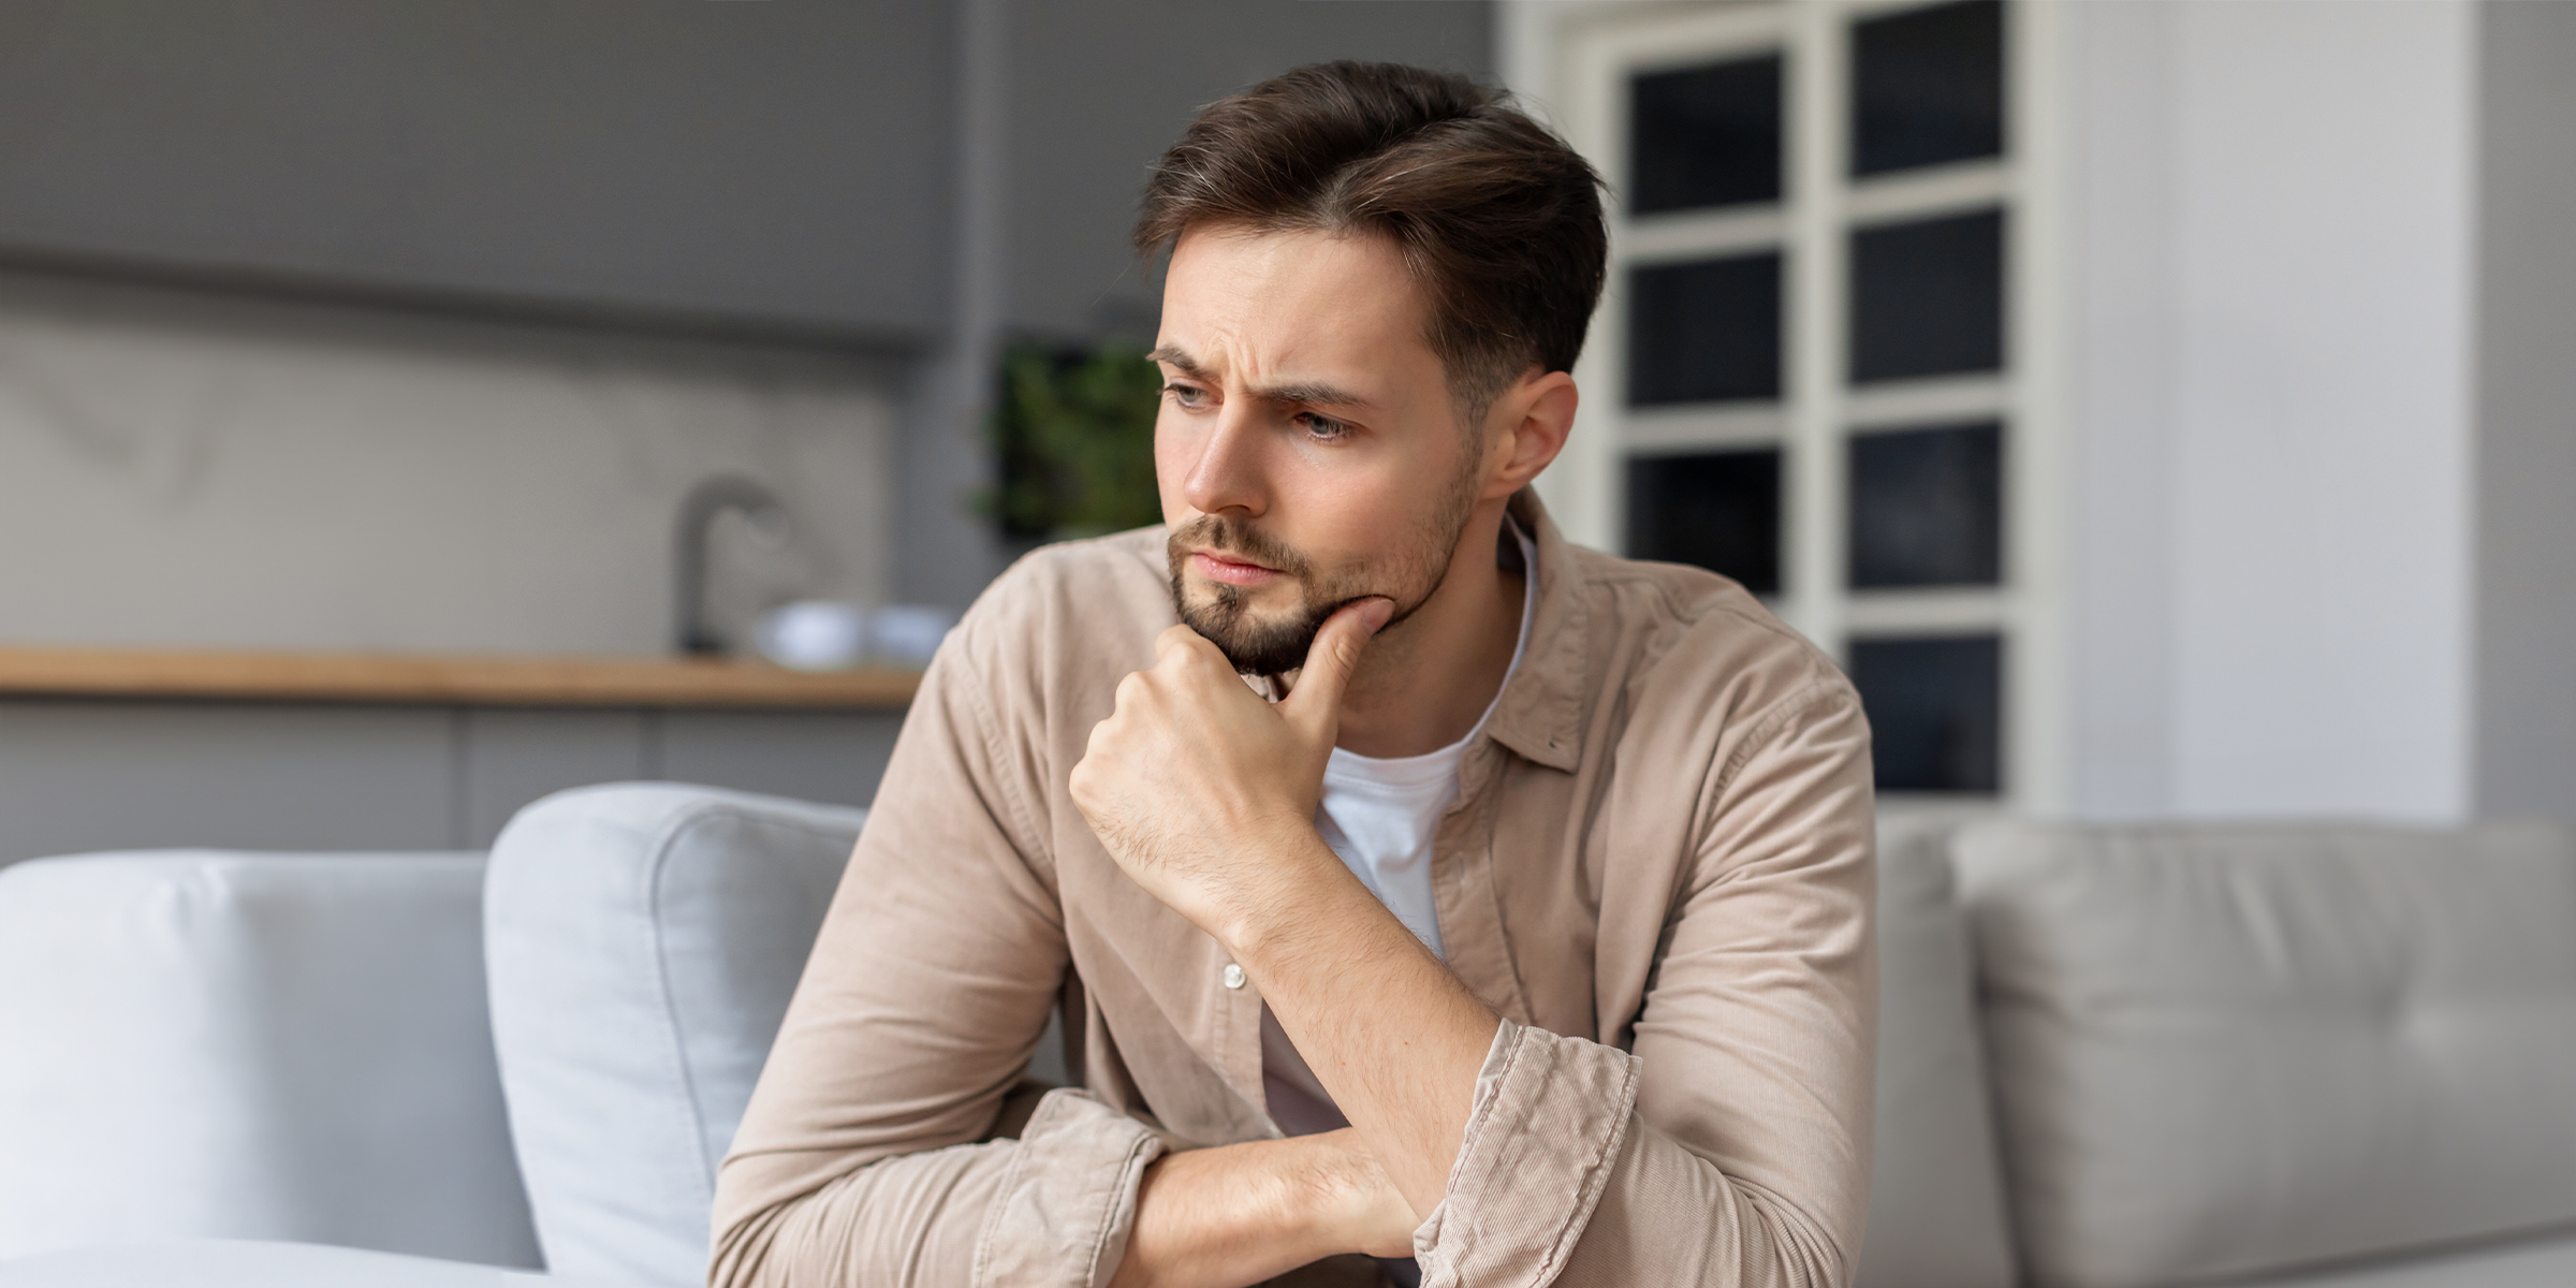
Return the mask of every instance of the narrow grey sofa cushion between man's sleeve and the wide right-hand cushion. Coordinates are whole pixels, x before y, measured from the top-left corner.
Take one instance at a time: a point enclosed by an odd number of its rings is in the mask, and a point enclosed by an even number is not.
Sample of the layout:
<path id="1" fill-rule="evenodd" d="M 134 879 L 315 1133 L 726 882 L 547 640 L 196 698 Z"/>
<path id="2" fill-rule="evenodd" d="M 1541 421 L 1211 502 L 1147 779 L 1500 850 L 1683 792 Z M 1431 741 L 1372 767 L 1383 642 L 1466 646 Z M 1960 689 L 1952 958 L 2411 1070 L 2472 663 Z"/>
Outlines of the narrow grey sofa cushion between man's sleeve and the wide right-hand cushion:
<path id="1" fill-rule="evenodd" d="M 1950 896 L 1950 832 L 1878 822 L 1878 1123 L 1857 1288 L 2012 1288 L 1968 927 Z"/>

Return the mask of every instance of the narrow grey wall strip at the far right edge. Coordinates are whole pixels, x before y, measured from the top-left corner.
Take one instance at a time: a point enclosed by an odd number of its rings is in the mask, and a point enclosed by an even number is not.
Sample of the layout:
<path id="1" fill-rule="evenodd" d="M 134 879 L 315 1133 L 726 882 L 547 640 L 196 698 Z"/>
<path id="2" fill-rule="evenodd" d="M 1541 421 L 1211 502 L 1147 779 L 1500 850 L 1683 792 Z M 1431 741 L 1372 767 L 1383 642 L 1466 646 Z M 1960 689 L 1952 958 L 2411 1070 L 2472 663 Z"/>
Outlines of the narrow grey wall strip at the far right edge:
<path id="1" fill-rule="evenodd" d="M 2476 799 L 2576 822 L 2576 5 L 2481 5 Z"/>

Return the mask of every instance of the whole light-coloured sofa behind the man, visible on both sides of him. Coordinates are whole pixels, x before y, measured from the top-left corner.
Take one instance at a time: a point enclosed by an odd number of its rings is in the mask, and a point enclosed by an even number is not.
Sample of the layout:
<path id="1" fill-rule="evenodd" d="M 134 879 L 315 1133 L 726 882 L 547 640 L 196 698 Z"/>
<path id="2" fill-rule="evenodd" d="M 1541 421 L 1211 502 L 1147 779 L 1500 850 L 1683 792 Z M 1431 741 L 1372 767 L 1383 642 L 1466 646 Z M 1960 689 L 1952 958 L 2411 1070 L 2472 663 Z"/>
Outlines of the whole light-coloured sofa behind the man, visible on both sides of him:
<path id="1" fill-rule="evenodd" d="M 860 819 L 631 783 L 528 806 L 489 863 L 0 871 L 0 1285 L 245 1257 L 137 1247 L 206 1236 L 698 1283 Z M 1880 850 L 1862 1288 L 2576 1283 L 2566 835 L 1893 819 Z M 430 1265 L 348 1257 L 227 1283 Z"/>

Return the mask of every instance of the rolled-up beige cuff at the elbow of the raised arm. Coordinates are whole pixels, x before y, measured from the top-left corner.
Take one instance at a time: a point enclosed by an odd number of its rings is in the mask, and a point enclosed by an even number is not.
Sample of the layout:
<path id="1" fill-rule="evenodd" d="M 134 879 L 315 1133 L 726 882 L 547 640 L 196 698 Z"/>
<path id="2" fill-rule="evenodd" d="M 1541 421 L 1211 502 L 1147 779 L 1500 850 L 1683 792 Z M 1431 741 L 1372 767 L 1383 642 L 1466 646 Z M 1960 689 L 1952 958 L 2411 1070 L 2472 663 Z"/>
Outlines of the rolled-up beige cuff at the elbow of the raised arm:
<path id="1" fill-rule="evenodd" d="M 1610 1182 L 1638 1059 L 1502 1020 L 1448 1193 L 1414 1231 L 1422 1288 L 1540 1288 L 1566 1267 Z"/>

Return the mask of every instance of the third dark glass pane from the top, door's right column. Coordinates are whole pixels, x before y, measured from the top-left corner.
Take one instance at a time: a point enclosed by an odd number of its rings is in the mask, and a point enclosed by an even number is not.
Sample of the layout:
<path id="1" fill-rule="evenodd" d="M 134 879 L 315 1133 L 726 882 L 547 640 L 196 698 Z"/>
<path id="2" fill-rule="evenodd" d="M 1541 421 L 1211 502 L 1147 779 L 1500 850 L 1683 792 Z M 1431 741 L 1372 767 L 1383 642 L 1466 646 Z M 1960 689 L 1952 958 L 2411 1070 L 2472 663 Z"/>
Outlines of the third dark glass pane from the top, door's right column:
<path id="1" fill-rule="evenodd" d="M 1852 438 L 1852 585 L 2004 580 L 2004 428 Z"/>

